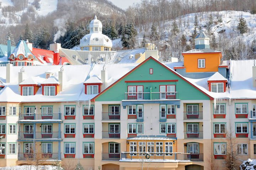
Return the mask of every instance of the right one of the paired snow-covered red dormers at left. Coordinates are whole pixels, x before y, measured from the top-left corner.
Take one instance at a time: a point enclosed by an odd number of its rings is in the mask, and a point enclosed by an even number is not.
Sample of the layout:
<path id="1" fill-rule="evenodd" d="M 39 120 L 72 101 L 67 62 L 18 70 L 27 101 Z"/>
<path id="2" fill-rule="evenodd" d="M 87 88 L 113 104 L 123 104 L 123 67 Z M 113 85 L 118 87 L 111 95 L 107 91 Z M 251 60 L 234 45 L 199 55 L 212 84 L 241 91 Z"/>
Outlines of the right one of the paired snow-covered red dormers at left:
<path id="1" fill-rule="evenodd" d="M 43 96 L 56 96 L 59 92 L 59 81 L 51 76 L 41 83 Z"/>

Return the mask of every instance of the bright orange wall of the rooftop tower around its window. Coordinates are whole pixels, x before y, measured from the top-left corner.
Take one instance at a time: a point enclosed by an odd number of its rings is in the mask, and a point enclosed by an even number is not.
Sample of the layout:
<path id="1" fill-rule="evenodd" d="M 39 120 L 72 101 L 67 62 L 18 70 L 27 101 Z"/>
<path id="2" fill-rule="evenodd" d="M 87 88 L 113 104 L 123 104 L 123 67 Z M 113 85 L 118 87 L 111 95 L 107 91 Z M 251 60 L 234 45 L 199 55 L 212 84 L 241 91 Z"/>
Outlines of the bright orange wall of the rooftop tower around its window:
<path id="1" fill-rule="evenodd" d="M 191 53 L 182 54 L 186 72 L 218 72 L 222 57 L 221 53 Z M 198 68 L 198 59 L 205 59 L 205 68 Z"/>

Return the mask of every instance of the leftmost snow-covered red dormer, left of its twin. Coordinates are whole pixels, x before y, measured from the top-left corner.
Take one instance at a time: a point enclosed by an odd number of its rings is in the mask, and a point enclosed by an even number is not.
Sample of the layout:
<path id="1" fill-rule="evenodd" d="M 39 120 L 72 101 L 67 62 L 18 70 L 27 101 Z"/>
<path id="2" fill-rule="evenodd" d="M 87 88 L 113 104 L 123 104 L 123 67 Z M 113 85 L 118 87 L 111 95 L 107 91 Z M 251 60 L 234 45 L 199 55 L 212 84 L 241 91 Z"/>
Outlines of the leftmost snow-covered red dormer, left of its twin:
<path id="1" fill-rule="evenodd" d="M 39 87 L 41 87 L 34 77 L 29 77 L 28 79 L 22 81 L 19 85 L 21 87 L 21 96 L 36 95 Z"/>

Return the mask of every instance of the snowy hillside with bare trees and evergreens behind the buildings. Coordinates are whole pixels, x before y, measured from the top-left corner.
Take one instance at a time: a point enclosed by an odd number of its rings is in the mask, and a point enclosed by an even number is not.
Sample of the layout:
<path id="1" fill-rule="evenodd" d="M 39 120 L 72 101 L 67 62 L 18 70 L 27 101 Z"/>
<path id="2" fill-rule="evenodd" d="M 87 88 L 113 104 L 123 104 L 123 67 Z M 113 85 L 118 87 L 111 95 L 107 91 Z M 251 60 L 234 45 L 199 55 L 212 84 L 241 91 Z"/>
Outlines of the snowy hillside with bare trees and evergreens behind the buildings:
<path id="1" fill-rule="evenodd" d="M 256 58 L 255 0 L 142 0 L 127 10 L 107 0 L 0 0 L 0 40 L 28 39 L 34 47 L 79 45 L 97 15 L 113 50 L 155 43 L 162 57 L 179 57 L 194 48 L 201 31 L 225 60 Z"/>

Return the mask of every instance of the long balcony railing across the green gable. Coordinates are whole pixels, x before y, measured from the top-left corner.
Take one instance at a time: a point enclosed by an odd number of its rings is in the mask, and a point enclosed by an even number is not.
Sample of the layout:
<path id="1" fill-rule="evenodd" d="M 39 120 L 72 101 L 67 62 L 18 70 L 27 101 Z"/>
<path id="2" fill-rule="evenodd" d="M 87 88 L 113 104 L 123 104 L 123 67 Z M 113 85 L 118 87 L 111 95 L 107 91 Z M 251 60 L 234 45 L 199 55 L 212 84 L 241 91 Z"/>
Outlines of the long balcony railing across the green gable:
<path id="1" fill-rule="evenodd" d="M 177 92 L 134 92 L 125 93 L 125 100 L 174 100 Z"/>

